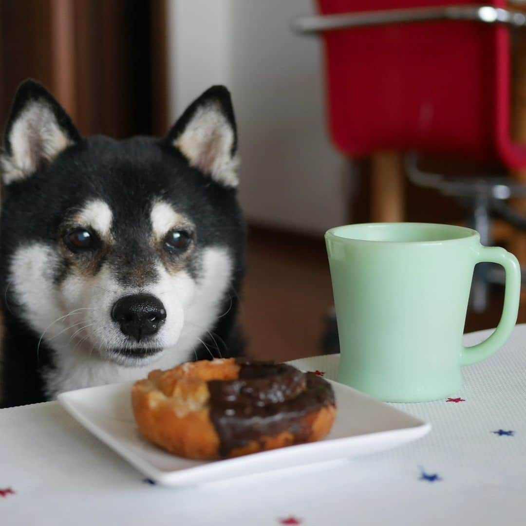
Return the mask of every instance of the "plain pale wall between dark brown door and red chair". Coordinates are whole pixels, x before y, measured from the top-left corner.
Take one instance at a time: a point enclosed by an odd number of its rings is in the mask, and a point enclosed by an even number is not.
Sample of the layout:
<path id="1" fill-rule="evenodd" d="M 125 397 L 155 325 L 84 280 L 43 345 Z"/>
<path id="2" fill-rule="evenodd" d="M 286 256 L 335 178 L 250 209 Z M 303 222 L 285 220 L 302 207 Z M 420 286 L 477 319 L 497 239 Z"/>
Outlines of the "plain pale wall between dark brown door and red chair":
<path id="1" fill-rule="evenodd" d="M 324 122 L 321 48 L 289 29 L 308 0 L 169 0 L 170 113 L 232 92 L 248 219 L 319 233 L 346 218 L 343 160 Z"/>

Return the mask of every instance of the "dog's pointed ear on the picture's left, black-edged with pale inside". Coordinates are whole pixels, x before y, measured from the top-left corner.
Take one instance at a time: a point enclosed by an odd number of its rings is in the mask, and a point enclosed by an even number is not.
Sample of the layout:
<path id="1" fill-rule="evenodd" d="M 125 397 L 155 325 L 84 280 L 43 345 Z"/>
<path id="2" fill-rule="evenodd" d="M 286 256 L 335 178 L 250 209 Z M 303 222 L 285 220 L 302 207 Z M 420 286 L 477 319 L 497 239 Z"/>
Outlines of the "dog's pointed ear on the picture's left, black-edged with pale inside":
<path id="1" fill-rule="evenodd" d="M 0 159 L 4 183 L 31 176 L 79 140 L 64 108 L 44 86 L 26 80 L 17 89 L 5 128 Z"/>

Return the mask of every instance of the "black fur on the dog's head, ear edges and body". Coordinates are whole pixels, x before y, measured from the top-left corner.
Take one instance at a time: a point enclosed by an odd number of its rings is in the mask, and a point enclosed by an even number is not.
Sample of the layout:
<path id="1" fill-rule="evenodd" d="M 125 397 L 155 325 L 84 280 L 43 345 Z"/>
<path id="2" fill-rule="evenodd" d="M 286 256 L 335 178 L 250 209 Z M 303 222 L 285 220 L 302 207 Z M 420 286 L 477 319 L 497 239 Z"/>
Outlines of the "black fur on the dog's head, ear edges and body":
<path id="1" fill-rule="evenodd" d="M 242 341 L 236 328 L 241 281 L 244 275 L 245 225 L 235 188 L 214 181 L 208 174 L 189 166 L 188 160 L 172 146 L 188 123 L 195 108 L 211 99 L 219 102 L 235 129 L 234 113 L 228 90 L 210 88 L 191 105 L 163 139 L 133 137 L 116 141 L 107 137 L 81 138 L 63 108 L 39 84 L 28 81 L 19 88 L 6 126 L 5 152 L 11 154 L 9 131 L 28 100 L 42 98 L 53 108 L 57 122 L 73 145 L 52 163 L 43 165 L 22 180 L 13 181 L 3 190 L 0 217 L 0 291 L 4 314 L 0 377 L 0 407 L 45 400 L 42 371 L 53 367 L 53 354 L 40 334 L 27 323 L 13 290 L 8 285 L 8 270 L 14 251 L 21 244 L 44 242 L 58 250 L 64 221 L 85 201 L 102 198 L 113 211 L 112 234 L 116 240 L 112 252 L 113 268 L 119 279 L 126 281 L 126 271 L 137 261 L 148 263 L 155 257 L 146 245 L 149 234 L 151 201 L 163 198 L 187 215 L 195 224 L 198 250 L 207 246 L 228 247 L 235 262 L 231 288 L 222 300 L 220 317 L 206 345 L 216 346 L 222 356 L 237 356 Z M 237 140 L 236 140 L 237 144 Z M 189 261 L 191 273 L 199 276 L 198 259 Z M 64 259 L 53 269 L 57 282 L 68 272 Z M 155 276 L 151 277 L 155 279 Z M 209 358 L 201 345 L 197 358 Z M 217 356 L 217 354 L 216 354 Z M 188 356 L 188 359 L 194 355 Z"/>

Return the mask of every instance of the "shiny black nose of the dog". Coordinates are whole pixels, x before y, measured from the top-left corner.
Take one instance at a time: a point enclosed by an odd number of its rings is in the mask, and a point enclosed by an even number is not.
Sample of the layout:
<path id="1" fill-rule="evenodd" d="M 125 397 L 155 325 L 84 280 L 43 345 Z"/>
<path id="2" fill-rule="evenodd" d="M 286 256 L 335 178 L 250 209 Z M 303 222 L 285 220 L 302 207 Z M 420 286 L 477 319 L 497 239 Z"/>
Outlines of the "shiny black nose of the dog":
<path id="1" fill-rule="evenodd" d="M 161 301 L 151 294 L 134 294 L 120 298 L 112 309 L 112 318 L 126 336 L 140 341 L 155 334 L 166 319 Z"/>

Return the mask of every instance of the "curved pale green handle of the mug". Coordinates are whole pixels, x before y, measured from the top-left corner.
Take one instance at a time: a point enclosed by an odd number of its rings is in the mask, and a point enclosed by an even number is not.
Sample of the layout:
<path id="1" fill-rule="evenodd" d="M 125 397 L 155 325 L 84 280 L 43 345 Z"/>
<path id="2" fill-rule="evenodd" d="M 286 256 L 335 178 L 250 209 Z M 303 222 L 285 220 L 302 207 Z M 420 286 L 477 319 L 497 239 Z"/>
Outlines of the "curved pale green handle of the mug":
<path id="1" fill-rule="evenodd" d="M 506 272 L 502 316 L 499 325 L 487 340 L 473 347 L 462 347 L 460 365 L 471 365 L 485 360 L 502 347 L 515 327 L 519 312 L 521 267 L 517 258 L 501 247 L 481 245 L 477 263 L 482 262 L 498 263 L 504 267 Z"/>

